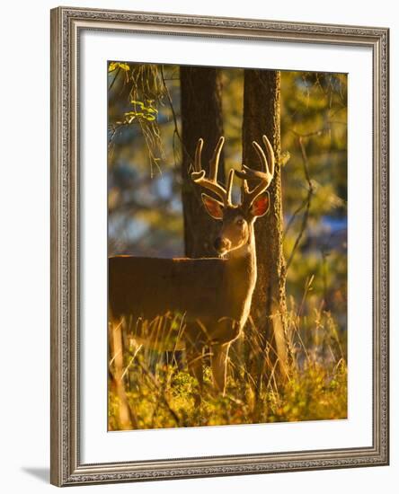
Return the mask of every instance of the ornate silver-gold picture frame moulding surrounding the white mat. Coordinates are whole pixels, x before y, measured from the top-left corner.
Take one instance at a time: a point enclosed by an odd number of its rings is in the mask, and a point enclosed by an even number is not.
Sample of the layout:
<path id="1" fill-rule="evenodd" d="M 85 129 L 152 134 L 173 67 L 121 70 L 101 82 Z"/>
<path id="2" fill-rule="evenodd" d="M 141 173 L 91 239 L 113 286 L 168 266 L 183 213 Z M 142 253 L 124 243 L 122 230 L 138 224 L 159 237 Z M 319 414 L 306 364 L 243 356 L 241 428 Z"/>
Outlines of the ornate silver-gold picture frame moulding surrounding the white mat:
<path id="1" fill-rule="evenodd" d="M 340 450 L 83 464 L 79 457 L 77 63 L 84 29 L 366 46 L 373 51 L 373 445 Z M 388 445 L 386 28 L 58 7 L 51 11 L 51 483 L 58 486 L 386 465 Z"/>

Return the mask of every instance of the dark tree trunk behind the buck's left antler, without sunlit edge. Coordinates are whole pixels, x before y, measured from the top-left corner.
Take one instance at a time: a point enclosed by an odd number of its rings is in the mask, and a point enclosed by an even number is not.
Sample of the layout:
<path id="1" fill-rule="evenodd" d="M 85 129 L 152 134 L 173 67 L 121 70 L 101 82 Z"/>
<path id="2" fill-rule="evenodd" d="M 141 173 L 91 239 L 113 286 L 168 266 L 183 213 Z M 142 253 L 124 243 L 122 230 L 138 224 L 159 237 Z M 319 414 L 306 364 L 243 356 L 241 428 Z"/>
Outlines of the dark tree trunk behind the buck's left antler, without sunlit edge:
<path id="1" fill-rule="evenodd" d="M 190 178 L 195 147 L 204 139 L 202 168 L 208 162 L 223 136 L 221 86 L 215 67 L 182 66 L 182 207 L 185 254 L 191 258 L 215 257 L 213 241 L 217 222 L 208 216 L 201 203 L 201 190 Z M 218 180 L 225 181 L 223 152 L 220 156 Z"/>

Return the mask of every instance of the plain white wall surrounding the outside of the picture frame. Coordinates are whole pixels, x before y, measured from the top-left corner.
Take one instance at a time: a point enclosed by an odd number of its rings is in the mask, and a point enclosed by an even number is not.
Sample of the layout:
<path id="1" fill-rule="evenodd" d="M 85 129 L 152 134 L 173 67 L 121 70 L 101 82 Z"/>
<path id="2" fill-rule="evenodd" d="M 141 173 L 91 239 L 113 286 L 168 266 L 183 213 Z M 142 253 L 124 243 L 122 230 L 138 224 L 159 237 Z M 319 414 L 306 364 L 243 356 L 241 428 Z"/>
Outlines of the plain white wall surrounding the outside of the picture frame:
<path id="1" fill-rule="evenodd" d="M 395 2 L 347 0 L 277 3 L 229 0 L 82 0 L 67 5 L 196 13 L 270 20 L 363 24 L 391 28 L 391 88 L 399 87 L 399 17 Z M 0 31 L 0 454 L 2 490 L 47 492 L 49 485 L 49 9 L 57 2 L 7 2 Z M 398 97 L 391 91 L 391 251 L 399 250 Z M 395 222 L 396 220 L 396 222 Z M 193 481 L 92 486 L 79 490 L 288 492 L 324 494 L 397 492 L 399 481 L 399 266 L 392 256 L 391 465 Z M 396 418 L 396 419 L 395 419 Z"/>

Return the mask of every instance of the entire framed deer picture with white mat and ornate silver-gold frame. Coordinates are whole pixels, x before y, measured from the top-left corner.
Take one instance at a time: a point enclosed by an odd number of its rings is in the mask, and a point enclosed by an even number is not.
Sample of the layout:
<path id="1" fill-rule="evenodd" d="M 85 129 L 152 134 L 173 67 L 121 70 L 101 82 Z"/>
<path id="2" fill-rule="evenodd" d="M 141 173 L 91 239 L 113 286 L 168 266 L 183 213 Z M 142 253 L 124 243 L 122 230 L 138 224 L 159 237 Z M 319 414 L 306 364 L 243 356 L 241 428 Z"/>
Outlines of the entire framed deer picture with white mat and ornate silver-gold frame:
<path id="1" fill-rule="evenodd" d="M 51 482 L 388 463 L 386 28 L 51 11 Z"/>

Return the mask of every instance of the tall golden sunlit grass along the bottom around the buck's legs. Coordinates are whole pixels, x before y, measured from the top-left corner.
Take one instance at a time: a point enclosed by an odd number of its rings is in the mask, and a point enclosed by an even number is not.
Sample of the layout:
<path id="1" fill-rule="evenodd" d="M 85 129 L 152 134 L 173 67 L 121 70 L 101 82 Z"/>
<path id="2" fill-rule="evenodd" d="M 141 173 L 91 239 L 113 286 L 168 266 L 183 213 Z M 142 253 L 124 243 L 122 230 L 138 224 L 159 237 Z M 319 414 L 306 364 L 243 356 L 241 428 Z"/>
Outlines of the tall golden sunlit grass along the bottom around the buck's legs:
<path id="1" fill-rule="evenodd" d="M 204 387 L 187 371 L 184 352 L 167 354 L 137 346 L 123 334 L 124 391 L 117 393 L 110 362 L 109 430 L 126 428 L 120 410 L 126 405 L 131 428 L 176 428 L 253 424 L 347 417 L 346 331 L 339 330 L 323 308 L 303 313 L 289 301 L 288 339 L 292 359 L 282 377 L 249 322 L 230 348 L 226 395 L 212 384 L 209 357 L 204 355 Z M 121 403 L 121 400 L 125 401 Z"/>

